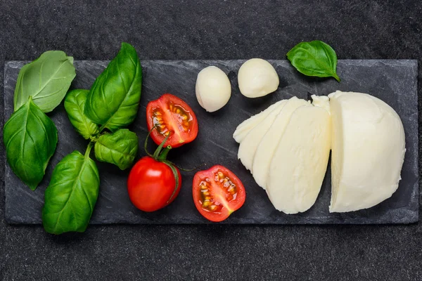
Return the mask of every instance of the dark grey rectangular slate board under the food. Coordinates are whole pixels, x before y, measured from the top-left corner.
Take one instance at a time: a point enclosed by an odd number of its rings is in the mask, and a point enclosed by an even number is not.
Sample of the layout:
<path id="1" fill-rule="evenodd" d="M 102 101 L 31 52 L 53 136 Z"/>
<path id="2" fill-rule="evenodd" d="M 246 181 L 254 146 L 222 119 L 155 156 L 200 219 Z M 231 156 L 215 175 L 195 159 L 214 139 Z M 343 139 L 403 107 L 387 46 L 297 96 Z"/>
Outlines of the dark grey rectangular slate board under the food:
<path id="1" fill-rule="evenodd" d="M 416 60 L 339 60 L 338 74 L 342 81 L 304 77 L 286 60 L 269 60 L 280 76 L 276 93 L 258 99 L 245 98 L 238 91 L 237 71 L 245 60 L 143 60 L 143 87 L 139 114 L 129 127 L 138 133 L 140 148 L 146 137 L 145 107 L 149 100 L 162 93 L 173 93 L 186 100 L 196 112 L 200 131 L 198 138 L 170 152 L 170 159 L 180 166 L 193 167 L 206 163 L 229 167 L 243 181 L 247 190 L 245 205 L 223 223 L 248 224 L 324 224 L 324 223 L 413 223 L 418 221 L 418 110 Z M 27 62 L 6 62 L 4 70 L 5 120 L 13 112 L 13 91 L 20 67 Z M 75 61 L 77 77 L 72 88 L 89 89 L 95 77 L 108 61 Z M 231 80 L 232 96 L 218 112 L 207 113 L 195 97 L 198 72 L 208 65 L 224 70 Z M 402 169 L 402 181 L 391 198 L 371 209 L 344 214 L 330 214 L 330 169 L 314 206 L 302 214 L 286 215 L 276 211 L 264 190 L 256 185 L 249 171 L 237 160 L 238 144 L 231 137 L 244 119 L 267 108 L 276 100 L 298 96 L 307 99 L 310 94 L 327 95 L 335 90 L 371 93 L 385 100 L 399 114 L 406 133 L 407 152 Z M 56 154 L 46 171 L 44 181 L 32 192 L 13 174 L 6 164 L 5 194 L 8 223 L 41 223 L 44 190 L 53 166 L 73 150 L 84 152 L 87 141 L 72 128 L 63 105 L 49 116 L 58 128 L 59 143 Z M 152 145 L 151 145 L 152 146 Z M 151 147 L 151 150 L 153 147 Z M 141 155 L 144 153 L 140 149 Z M 139 211 L 129 201 L 126 178 L 129 171 L 97 162 L 101 189 L 91 223 L 208 223 L 196 211 L 191 199 L 194 172 L 182 172 L 183 183 L 177 200 L 169 207 L 148 214 Z"/>

